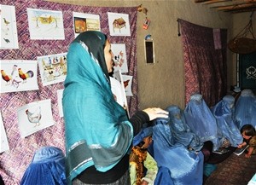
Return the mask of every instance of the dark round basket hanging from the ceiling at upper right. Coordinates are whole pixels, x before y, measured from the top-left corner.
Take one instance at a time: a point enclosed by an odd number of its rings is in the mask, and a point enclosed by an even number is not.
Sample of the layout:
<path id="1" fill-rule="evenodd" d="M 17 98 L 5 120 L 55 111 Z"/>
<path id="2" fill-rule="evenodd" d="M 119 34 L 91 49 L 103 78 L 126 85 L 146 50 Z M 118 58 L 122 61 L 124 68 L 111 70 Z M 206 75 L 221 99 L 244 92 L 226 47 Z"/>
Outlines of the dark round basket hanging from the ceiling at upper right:
<path id="1" fill-rule="evenodd" d="M 250 54 L 256 51 L 256 38 L 253 34 L 253 12 L 250 15 L 250 20 L 247 26 L 245 26 L 241 32 L 228 43 L 228 48 L 234 53 Z M 252 38 L 247 37 L 249 33 L 252 35 Z"/>

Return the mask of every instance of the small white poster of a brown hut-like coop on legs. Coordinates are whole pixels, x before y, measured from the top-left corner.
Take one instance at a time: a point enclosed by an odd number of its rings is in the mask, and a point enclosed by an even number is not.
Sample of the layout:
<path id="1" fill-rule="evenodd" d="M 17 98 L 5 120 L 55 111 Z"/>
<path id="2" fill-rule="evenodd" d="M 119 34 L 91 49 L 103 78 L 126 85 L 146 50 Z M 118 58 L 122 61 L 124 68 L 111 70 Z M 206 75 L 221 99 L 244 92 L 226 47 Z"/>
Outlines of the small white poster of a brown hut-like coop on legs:
<path id="1" fill-rule="evenodd" d="M 111 36 L 131 36 L 129 14 L 108 12 L 108 27 Z"/>

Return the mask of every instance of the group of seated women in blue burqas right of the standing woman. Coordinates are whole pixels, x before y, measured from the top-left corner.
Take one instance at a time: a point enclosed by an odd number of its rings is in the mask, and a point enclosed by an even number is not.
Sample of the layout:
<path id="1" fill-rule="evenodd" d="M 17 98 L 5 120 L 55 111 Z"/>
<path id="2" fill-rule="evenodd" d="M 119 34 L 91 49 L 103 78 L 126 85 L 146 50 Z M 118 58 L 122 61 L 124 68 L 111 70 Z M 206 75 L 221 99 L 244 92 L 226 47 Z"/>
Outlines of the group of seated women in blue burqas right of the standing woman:
<path id="1" fill-rule="evenodd" d="M 220 148 L 243 142 L 241 127 L 256 128 L 256 98 L 252 90 L 242 90 L 237 101 L 225 95 L 208 107 L 201 94 L 190 96 L 182 110 L 176 105 L 166 108 L 168 119 L 155 119 L 153 142 L 148 147 L 158 165 L 154 184 L 202 184 L 204 164 L 222 162 L 229 155 L 214 156 Z M 225 157 L 224 157 L 225 156 Z"/>

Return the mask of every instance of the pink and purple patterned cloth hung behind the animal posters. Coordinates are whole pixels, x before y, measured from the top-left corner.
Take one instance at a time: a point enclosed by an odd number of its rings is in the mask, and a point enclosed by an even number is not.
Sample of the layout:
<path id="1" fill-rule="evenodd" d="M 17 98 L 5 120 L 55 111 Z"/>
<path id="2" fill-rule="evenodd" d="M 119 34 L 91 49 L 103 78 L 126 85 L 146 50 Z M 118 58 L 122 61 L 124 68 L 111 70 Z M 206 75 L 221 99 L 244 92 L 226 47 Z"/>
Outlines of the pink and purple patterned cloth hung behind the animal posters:
<path id="1" fill-rule="evenodd" d="M 133 76 L 132 97 L 128 97 L 131 115 L 137 111 L 137 7 L 86 7 L 64 3 L 50 3 L 41 0 L 11 1 L 1 0 L 1 4 L 15 6 L 19 49 L 0 49 L 0 60 L 37 60 L 37 56 L 67 52 L 74 39 L 73 12 L 99 14 L 102 32 L 108 35 L 111 43 L 125 43 L 128 75 Z M 31 40 L 26 8 L 61 11 L 65 27 L 65 40 Z M 129 14 L 131 37 L 111 37 L 108 29 L 108 12 Z M 1 18 L 2 19 L 2 18 Z M 58 112 L 57 90 L 63 83 L 43 86 L 38 71 L 39 90 L 3 93 L 0 95 L 0 110 L 10 150 L 0 154 L 0 174 L 5 184 L 20 184 L 26 167 L 31 163 L 33 153 L 44 146 L 64 147 L 64 119 Z M 55 125 L 20 138 L 17 108 L 33 101 L 51 100 Z"/>

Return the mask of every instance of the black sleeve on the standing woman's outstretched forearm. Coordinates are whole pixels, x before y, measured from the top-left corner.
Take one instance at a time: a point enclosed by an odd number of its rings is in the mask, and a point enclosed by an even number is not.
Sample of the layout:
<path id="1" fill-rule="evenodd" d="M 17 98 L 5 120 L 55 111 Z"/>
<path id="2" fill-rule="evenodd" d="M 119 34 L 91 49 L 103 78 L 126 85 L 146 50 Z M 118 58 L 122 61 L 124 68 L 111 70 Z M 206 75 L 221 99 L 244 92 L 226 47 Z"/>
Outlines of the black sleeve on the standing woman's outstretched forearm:
<path id="1" fill-rule="evenodd" d="M 143 111 L 137 111 L 137 113 L 135 113 L 130 119 L 133 127 L 133 136 L 136 136 L 142 129 L 143 124 L 147 123 L 148 121 L 148 113 L 145 113 Z"/>

